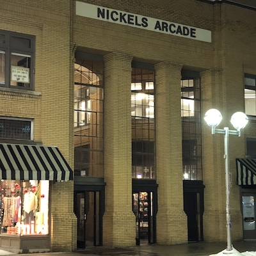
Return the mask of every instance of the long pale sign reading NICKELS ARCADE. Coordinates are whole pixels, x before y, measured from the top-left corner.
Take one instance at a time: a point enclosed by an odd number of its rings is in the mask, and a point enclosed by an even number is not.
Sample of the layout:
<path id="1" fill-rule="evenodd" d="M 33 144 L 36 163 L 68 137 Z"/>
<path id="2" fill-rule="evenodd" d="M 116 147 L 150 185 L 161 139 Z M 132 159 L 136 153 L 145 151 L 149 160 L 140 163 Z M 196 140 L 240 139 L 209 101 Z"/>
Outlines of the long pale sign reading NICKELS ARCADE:
<path id="1" fill-rule="evenodd" d="M 209 43 L 212 42 L 211 31 L 206 29 L 195 28 L 133 13 L 121 12 L 79 1 L 76 2 L 76 15 L 131 26 L 133 28 L 147 29 L 166 35 L 180 36 Z"/>

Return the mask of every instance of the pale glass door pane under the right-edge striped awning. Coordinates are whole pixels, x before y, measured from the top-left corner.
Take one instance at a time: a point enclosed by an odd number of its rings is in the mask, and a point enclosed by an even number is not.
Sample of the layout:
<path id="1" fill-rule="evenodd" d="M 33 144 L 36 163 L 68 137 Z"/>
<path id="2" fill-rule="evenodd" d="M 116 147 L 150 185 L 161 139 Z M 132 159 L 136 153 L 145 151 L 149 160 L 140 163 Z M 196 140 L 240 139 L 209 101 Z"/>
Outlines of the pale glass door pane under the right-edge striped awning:
<path id="1" fill-rule="evenodd" d="M 244 239 L 256 239 L 255 229 L 255 196 L 256 193 L 242 194 Z"/>

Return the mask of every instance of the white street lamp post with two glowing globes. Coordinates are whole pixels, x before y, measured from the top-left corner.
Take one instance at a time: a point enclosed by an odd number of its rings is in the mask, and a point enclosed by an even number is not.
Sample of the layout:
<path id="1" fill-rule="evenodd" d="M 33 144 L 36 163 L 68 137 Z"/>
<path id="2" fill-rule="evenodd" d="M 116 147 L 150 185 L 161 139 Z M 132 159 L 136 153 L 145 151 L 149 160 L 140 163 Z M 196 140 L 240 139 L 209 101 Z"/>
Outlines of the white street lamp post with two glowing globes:
<path id="1" fill-rule="evenodd" d="M 224 138 L 224 158 L 225 158 L 225 186 L 226 186 L 226 214 L 227 214 L 227 251 L 232 251 L 231 241 L 231 218 L 230 218 L 230 167 L 229 167 L 229 134 L 241 136 L 241 129 L 248 123 L 248 117 L 243 112 L 236 112 L 231 117 L 231 124 L 236 131 L 224 129 L 216 129 L 222 120 L 222 116 L 218 109 L 209 109 L 204 116 L 205 122 L 211 127 L 212 134 L 225 134 Z"/>

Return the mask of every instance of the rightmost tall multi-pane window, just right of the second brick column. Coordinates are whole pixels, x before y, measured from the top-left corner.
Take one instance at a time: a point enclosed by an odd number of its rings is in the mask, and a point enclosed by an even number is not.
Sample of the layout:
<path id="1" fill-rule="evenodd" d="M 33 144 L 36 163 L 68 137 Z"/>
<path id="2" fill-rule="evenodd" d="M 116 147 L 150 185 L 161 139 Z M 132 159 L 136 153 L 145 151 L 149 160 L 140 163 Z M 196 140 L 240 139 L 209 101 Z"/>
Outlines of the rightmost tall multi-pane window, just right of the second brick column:
<path id="1" fill-rule="evenodd" d="M 184 179 L 202 180 L 200 79 L 196 72 L 182 72 L 182 162 Z"/>

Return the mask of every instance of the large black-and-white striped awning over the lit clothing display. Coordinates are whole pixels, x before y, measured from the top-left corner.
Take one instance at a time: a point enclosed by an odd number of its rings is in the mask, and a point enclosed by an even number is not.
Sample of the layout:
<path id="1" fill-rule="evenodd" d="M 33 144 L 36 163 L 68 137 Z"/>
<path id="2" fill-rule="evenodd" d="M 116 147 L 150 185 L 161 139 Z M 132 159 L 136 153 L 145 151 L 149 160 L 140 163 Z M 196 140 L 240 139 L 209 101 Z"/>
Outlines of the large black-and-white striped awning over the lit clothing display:
<path id="1" fill-rule="evenodd" d="M 0 144 L 0 179 L 73 180 L 73 172 L 56 147 Z"/>

